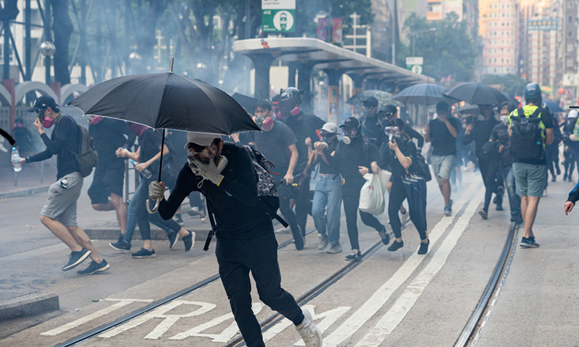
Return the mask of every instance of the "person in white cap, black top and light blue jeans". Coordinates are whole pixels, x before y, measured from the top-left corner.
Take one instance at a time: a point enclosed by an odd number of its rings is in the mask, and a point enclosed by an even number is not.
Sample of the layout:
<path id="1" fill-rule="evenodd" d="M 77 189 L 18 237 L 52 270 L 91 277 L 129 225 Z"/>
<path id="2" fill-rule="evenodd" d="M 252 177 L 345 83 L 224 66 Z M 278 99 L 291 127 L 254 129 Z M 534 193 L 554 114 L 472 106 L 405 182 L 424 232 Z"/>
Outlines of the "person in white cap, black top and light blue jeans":
<path id="1" fill-rule="evenodd" d="M 339 143 L 338 127 L 334 123 L 326 123 L 321 127 L 321 142 L 314 143 L 314 160 L 319 162 L 320 178 L 316 183 L 312 217 L 319 234 L 318 249 L 324 250 L 328 244 L 328 253 L 342 252 L 339 244 L 339 207 L 342 205 L 342 176 L 339 175 L 337 162 L 328 160 Z"/>

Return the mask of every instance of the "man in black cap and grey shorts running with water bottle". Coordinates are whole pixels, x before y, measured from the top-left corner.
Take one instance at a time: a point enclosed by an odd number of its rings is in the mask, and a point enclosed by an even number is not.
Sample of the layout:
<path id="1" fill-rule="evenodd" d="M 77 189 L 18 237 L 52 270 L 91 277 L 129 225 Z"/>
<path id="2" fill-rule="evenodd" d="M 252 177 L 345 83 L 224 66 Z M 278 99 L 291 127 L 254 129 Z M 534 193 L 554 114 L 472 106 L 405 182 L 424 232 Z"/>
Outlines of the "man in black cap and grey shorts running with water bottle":
<path id="1" fill-rule="evenodd" d="M 21 158 L 19 163 L 40 162 L 56 154 L 56 182 L 49 188 L 49 197 L 40 212 L 40 221 L 72 252 L 62 271 L 73 269 L 87 257 L 90 257 L 92 262 L 86 269 L 78 271 L 79 274 L 106 271 L 110 265 L 97 253 L 86 232 L 76 224 L 76 201 L 81 196 L 83 187 L 83 176 L 74 154 L 81 141 L 76 121 L 70 116 L 62 115 L 56 101 L 47 95 L 36 99 L 33 108 L 28 112 L 36 112 L 34 126 L 47 149 Z M 53 124 L 56 124 L 56 128 L 49 138 L 43 128 L 50 128 Z"/>

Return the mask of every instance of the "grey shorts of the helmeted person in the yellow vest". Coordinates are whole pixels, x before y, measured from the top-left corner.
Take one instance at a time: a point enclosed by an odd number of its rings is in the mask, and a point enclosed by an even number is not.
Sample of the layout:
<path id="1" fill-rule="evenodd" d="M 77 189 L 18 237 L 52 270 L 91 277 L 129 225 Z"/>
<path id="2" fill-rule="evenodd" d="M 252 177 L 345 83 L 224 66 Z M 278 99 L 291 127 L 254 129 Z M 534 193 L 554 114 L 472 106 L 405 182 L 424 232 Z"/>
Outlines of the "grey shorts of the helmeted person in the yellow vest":
<path id="1" fill-rule="evenodd" d="M 512 163 L 517 194 L 519 196 L 535 196 L 540 198 L 547 185 L 547 166 L 525 164 L 523 162 Z"/>

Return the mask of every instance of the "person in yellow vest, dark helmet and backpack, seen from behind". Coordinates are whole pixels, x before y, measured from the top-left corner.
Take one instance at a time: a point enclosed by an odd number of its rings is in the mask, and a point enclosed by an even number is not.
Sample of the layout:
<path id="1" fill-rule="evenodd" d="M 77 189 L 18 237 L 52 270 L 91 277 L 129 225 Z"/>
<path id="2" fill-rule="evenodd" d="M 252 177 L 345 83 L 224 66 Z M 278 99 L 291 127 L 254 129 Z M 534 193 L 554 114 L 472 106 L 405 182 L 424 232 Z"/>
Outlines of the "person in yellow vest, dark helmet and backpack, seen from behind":
<path id="1" fill-rule="evenodd" d="M 510 153 L 525 223 L 521 247 L 537 248 L 539 244 L 535 242 L 532 226 L 547 183 L 545 145 L 553 143 L 553 115 L 542 108 L 541 89 L 537 83 L 526 86 L 525 102 L 523 108 L 514 110 L 509 116 Z"/>

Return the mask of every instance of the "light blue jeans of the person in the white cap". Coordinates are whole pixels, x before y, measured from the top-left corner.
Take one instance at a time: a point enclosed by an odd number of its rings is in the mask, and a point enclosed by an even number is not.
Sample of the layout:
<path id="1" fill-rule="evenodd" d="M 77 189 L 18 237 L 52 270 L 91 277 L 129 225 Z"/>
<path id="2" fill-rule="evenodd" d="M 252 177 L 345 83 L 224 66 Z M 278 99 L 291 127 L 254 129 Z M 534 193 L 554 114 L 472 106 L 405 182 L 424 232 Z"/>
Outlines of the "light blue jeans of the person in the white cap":
<path id="1" fill-rule="evenodd" d="M 314 192 L 312 217 L 320 235 L 326 235 L 327 230 L 330 244 L 339 244 L 340 205 L 342 205 L 342 177 L 339 174 L 321 176 Z"/>

